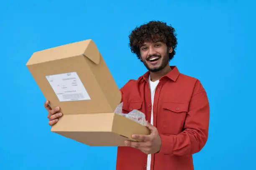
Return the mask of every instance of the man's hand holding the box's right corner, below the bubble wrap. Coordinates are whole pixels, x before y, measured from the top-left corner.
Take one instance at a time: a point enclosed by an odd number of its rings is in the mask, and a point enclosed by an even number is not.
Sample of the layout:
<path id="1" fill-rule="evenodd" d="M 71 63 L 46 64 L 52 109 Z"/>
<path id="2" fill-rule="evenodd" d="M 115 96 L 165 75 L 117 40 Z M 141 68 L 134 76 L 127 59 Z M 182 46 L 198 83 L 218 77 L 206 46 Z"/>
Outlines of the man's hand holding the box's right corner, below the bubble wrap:
<path id="1" fill-rule="evenodd" d="M 150 135 L 132 135 L 133 139 L 141 142 L 125 141 L 126 146 L 137 148 L 143 153 L 152 154 L 158 153 L 161 149 L 161 138 L 156 127 L 147 122 L 146 127 L 151 131 Z"/>

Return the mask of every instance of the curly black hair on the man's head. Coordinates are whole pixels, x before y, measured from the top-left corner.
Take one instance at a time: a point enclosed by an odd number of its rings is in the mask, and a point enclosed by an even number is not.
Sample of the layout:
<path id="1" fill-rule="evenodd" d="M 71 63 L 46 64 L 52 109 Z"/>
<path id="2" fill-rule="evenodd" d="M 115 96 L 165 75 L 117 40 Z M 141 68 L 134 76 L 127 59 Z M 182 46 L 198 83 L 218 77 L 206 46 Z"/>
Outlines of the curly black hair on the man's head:
<path id="1" fill-rule="evenodd" d="M 172 53 L 169 53 L 169 60 L 175 55 L 177 47 L 177 34 L 172 25 L 167 25 L 161 21 L 150 21 L 146 24 L 136 27 L 129 35 L 129 47 L 131 52 L 135 53 L 140 59 L 140 46 L 145 41 L 149 42 L 164 42 L 167 47 L 172 47 Z"/>

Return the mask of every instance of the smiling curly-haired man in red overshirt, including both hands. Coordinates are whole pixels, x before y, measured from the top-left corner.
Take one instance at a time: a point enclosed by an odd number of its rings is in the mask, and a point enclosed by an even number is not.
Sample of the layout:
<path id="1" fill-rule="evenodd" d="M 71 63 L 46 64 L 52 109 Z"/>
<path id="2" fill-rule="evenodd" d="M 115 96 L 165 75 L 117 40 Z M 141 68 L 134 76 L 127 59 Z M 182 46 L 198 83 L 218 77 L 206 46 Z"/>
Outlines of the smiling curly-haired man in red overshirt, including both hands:
<path id="1" fill-rule="evenodd" d="M 118 147 L 117 170 L 193 170 L 192 154 L 208 137 L 209 103 L 199 80 L 170 66 L 177 38 L 174 28 L 151 21 L 131 32 L 130 47 L 148 69 L 121 89 L 123 112 L 133 109 L 146 115 L 150 135 L 133 135 L 142 142 L 126 141 Z M 49 107 L 49 125 L 61 113 Z"/>

